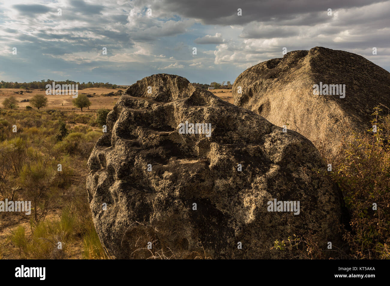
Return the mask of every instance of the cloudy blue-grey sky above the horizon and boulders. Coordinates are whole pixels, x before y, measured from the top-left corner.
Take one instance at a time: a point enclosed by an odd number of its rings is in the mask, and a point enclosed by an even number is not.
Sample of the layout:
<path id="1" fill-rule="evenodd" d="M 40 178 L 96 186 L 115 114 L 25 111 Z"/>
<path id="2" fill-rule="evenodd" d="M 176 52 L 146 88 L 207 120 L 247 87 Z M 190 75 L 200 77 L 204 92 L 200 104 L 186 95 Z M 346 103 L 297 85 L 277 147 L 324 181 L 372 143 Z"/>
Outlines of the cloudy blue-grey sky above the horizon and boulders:
<path id="1" fill-rule="evenodd" d="M 379 0 L 0 0 L 0 80 L 233 82 L 283 47 L 315 46 L 390 70 L 389 35 L 390 1 Z"/>

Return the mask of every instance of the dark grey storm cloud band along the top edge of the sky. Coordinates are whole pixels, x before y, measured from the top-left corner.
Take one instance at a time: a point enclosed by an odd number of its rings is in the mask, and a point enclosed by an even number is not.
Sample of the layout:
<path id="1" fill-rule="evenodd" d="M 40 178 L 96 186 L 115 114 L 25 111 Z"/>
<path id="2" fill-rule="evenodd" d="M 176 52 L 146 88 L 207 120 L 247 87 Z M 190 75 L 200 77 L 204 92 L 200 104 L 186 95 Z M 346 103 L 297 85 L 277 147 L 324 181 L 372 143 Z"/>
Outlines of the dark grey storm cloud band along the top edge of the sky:
<path id="1" fill-rule="evenodd" d="M 237 0 L 182 1 L 167 0 L 152 3 L 152 8 L 171 11 L 183 17 L 201 19 L 204 24 L 237 25 L 252 21 L 283 21 L 293 19 L 299 14 L 326 12 L 340 8 L 362 7 L 382 0 L 324 0 L 324 1 L 289 1 L 289 0 Z M 242 16 L 237 16 L 237 9 L 242 9 Z M 306 25 L 315 23 L 316 18 L 306 19 Z M 305 20 L 303 20 L 305 21 Z M 302 23 L 300 24 L 302 25 Z"/>

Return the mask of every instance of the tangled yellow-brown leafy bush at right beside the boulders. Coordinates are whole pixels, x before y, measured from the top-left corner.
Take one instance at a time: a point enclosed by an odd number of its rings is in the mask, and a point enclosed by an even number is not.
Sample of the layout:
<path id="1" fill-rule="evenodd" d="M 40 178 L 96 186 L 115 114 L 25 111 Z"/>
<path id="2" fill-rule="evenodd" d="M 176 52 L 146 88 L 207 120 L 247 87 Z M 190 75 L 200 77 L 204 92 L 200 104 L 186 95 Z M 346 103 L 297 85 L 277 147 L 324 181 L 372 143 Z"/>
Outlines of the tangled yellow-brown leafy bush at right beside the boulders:
<path id="1" fill-rule="evenodd" d="M 371 135 L 359 136 L 346 149 L 333 176 L 351 214 L 344 235 L 353 258 L 390 258 L 390 117 L 376 108 Z"/>

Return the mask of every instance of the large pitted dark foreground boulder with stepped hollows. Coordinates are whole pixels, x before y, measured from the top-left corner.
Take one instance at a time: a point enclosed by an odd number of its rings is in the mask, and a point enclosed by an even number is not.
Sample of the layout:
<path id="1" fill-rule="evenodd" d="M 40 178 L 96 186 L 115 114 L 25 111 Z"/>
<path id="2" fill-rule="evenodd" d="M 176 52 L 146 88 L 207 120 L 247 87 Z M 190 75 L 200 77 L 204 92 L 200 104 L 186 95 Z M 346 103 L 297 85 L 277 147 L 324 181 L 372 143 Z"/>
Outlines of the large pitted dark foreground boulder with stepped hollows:
<path id="1" fill-rule="evenodd" d="M 191 123 L 211 124 L 209 136 L 202 127 L 192 134 Z M 124 91 L 88 168 L 92 218 L 112 258 L 161 249 L 176 258 L 284 258 L 293 251 L 270 248 L 293 234 L 314 233 L 324 250 L 340 241 L 340 193 L 317 172 L 326 165 L 313 144 L 177 75 Z M 299 201 L 299 214 L 268 211 L 274 199 Z"/>

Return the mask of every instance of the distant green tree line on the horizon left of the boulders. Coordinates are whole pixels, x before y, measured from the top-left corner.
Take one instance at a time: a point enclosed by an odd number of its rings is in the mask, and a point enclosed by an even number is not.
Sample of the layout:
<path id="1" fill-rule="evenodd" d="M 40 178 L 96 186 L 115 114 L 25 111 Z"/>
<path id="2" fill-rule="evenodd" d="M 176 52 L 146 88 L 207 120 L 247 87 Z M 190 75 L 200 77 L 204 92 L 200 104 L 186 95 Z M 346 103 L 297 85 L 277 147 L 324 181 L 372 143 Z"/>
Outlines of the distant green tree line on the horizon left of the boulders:
<path id="1" fill-rule="evenodd" d="M 48 79 L 45 81 L 44 79 L 41 81 L 32 81 L 32 82 L 5 82 L 1 81 L 0 88 L 21 88 L 21 89 L 46 89 L 46 84 L 52 84 L 53 81 L 56 84 L 78 84 L 78 89 L 83 88 L 117 88 L 116 84 L 111 84 L 109 82 L 76 82 L 67 79 L 66 81 L 55 81 L 54 79 Z"/>

